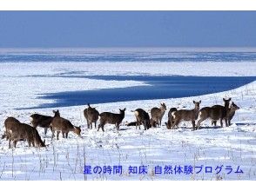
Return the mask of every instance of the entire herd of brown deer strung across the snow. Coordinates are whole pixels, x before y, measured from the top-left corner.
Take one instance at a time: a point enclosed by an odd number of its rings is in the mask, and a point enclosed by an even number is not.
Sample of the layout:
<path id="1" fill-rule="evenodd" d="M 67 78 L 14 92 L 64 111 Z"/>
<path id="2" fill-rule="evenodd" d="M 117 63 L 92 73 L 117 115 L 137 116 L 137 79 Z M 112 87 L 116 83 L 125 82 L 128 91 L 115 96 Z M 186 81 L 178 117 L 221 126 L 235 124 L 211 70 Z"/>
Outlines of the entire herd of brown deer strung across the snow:
<path id="1" fill-rule="evenodd" d="M 231 125 L 231 120 L 235 111 L 239 109 L 239 107 L 231 102 L 231 98 L 225 99 L 223 98 L 224 106 L 222 105 L 213 105 L 212 107 L 205 107 L 200 109 L 200 103 L 194 103 L 194 109 L 177 109 L 171 108 L 168 112 L 168 121 L 165 122 L 165 125 L 168 129 L 179 128 L 179 123 L 186 121 L 192 122 L 192 129 L 197 130 L 200 128 L 201 122 L 206 119 L 210 119 L 212 121 L 212 125 L 216 126 L 217 121 L 220 122 L 221 128 L 223 127 L 223 121 L 225 121 L 226 127 Z M 123 122 L 125 118 L 125 110 L 119 109 L 119 114 L 111 113 L 111 112 L 103 112 L 99 114 L 96 108 L 92 108 L 88 103 L 88 108 L 84 109 L 84 118 L 87 122 L 87 127 L 92 128 L 93 123 L 94 127 L 98 130 L 101 128 L 104 131 L 105 124 L 114 124 L 119 130 L 121 122 Z M 165 103 L 161 103 L 160 108 L 152 108 L 150 111 L 150 115 L 144 109 L 135 109 L 131 112 L 134 113 L 136 122 L 130 122 L 127 126 L 136 126 L 136 129 L 143 125 L 145 130 L 153 127 L 161 127 L 162 119 L 165 115 L 166 105 Z M 14 117 L 8 117 L 4 122 L 5 132 L 2 136 L 10 142 L 13 142 L 13 146 L 16 148 L 17 142 L 19 141 L 27 141 L 30 147 L 32 144 L 33 147 L 45 147 L 45 140 L 42 141 L 40 135 L 38 134 L 37 127 L 44 128 L 44 135 L 47 134 L 48 128 L 51 129 L 51 139 L 55 137 L 55 133 L 57 133 L 57 140 L 59 138 L 59 134 L 61 133 L 63 138 L 68 138 L 69 132 L 73 132 L 74 134 L 81 137 L 81 127 L 74 126 L 69 120 L 64 119 L 60 116 L 59 111 L 53 111 L 53 116 L 33 114 L 30 115 L 30 124 L 25 124 L 19 122 Z M 198 120 L 198 121 L 197 121 Z M 197 124 L 196 124 L 197 121 Z"/>

